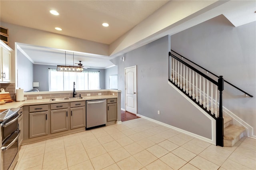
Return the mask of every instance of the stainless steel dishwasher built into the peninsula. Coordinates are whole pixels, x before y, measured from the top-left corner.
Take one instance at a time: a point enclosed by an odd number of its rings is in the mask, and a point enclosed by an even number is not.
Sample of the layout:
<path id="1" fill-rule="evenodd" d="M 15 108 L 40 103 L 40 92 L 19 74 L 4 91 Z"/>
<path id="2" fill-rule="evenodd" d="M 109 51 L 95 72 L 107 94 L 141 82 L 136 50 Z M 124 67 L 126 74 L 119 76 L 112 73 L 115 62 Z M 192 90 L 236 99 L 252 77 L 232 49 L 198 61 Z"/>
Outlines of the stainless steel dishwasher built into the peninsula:
<path id="1" fill-rule="evenodd" d="M 86 101 L 86 130 L 106 126 L 107 100 Z"/>

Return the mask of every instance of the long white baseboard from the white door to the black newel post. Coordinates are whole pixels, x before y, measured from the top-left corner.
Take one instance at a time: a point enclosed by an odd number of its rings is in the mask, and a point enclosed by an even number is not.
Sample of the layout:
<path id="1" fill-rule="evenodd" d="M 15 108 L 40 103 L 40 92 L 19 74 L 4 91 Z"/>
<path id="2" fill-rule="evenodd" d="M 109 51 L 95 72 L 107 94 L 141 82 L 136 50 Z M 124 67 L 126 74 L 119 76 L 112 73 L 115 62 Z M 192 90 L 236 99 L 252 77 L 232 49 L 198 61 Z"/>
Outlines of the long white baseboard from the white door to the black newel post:
<path id="1" fill-rule="evenodd" d="M 151 119 L 151 118 L 149 118 L 149 117 L 146 117 L 146 116 L 143 116 L 143 115 L 140 115 L 140 114 L 137 114 L 137 116 L 142 117 L 142 118 L 144 118 L 144 119 L 147 119 L 147 120 L 149 120 L 149 121 L 152 121 L 152 122 L 154 122 L 154 123 L 158 123 L 158 124 L 163 125 L 163 126 L 165 126 L 165 127 L 172 128 L 172 129 L 177 130 L 177 131 L 179 131 L 179 132 L 188 134 L 188 135 L 193 136 L 193 137 L 195 137 L 195 138 L 204 140 L 204 141 L 209 142 L 209 143 L 211 143 L 211 144 L 216 144 L 216 137 L 215 137 L 216 135 L 214 136 L 214 138 L 213 138 L 213 140 L 212 140 L 212 139 L 209 139 L 209 138 L 200 136 L 200 135 L 198 135 L 198 134 L 194 134 L 194 133 L 192 133 L 192 132 L 188 132 L 188 131 L 183 130 L 183 129 L 181 129 L 181 128 L 177 128 L 177 127 L 168 125 L 168 124 L 166 124 L 166 123 L 162 123 L 162 122 L 160 122 L 160 121 L 156 121 L 156 120 L 154 120 L 154 119 Z"/>

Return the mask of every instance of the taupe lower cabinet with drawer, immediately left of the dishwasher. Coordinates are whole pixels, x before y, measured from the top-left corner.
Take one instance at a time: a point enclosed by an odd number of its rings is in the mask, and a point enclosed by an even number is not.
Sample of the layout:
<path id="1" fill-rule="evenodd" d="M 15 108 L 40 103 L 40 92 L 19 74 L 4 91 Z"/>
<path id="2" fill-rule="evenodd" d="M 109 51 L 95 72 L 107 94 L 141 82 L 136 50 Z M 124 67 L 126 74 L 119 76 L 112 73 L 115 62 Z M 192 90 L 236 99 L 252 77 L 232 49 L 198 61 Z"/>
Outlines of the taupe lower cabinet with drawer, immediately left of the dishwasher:
<path id="1" fill-rule="evenodd" d="M 70 107 L 70 128 L 85 127 L 85 101 L 70 102 Z"/>

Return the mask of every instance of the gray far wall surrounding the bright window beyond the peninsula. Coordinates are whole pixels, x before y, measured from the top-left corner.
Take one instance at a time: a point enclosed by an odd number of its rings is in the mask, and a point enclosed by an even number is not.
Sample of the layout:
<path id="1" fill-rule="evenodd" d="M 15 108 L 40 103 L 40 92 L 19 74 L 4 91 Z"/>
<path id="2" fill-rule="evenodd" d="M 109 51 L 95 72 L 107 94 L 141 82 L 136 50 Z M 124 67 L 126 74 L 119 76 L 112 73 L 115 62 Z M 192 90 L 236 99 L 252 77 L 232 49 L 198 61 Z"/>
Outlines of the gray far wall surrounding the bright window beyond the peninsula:
<path id="1" fill-rule="evenodd" d="M 33 71 L 34 82 L 39 82 L 39 87 L 36 88 L 39 91 L 49 91 L 48 68 L 56 69 L 56 66 L 34 64 L 34 71 Z M 105 89 L 105 70 L 104 69 L 86 69 L 86 71 L 100 71 L 100 89 Z"/>

